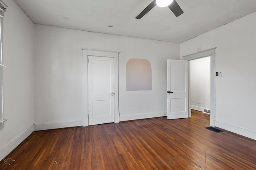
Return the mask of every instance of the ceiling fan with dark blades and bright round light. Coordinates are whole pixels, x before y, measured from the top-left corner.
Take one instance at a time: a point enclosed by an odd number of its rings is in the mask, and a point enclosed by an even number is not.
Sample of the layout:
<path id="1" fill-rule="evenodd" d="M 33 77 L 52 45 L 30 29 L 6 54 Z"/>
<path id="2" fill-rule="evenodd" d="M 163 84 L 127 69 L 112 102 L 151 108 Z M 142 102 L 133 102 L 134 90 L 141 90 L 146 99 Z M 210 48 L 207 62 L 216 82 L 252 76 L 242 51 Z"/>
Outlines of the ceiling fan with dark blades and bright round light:
<path id="1" fill-rule="evenodd" d="M 168 6 L 176 17 L 183 14 L 183 11 L 180 8 L 179 4 L 176 2 L 176 0 L 154 0 L 138 16 L 136 16 L 136 19 L 142 18 L 156 5 L 160 7 Z"/>

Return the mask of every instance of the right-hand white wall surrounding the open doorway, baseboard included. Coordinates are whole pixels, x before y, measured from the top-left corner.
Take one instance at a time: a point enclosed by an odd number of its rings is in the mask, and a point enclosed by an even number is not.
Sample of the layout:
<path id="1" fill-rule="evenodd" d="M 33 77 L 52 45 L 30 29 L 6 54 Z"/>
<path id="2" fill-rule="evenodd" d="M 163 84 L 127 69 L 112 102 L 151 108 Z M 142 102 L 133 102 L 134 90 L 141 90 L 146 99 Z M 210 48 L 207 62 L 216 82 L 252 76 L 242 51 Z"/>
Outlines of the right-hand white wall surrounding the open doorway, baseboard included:
<path id="1" fill-rule="evenodd" d="M 256 13 L 181 44 L 180 55 L 216 47 L 216 126 L 256 139 Z"/>

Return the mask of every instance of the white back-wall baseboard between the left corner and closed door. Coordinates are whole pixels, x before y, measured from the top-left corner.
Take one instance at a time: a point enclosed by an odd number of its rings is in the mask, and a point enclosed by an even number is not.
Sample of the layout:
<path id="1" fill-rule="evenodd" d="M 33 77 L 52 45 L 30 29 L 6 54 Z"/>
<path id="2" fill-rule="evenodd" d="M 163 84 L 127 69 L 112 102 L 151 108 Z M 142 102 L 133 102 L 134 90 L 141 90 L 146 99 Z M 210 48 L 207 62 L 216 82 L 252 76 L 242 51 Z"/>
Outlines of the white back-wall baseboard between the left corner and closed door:
<path id="1" fill-rule="evenodd" d="M 66 121 L 66 122 L 55 122 L 55 123 L 47 123 L 47 124 L 35 124 L 34 130 L 35 131 L 42 131 L 48 129 L 58 129 L 64 127 L 76 127 L 76 126 L 83 126 L 83 120 L 77 121 Z"/>

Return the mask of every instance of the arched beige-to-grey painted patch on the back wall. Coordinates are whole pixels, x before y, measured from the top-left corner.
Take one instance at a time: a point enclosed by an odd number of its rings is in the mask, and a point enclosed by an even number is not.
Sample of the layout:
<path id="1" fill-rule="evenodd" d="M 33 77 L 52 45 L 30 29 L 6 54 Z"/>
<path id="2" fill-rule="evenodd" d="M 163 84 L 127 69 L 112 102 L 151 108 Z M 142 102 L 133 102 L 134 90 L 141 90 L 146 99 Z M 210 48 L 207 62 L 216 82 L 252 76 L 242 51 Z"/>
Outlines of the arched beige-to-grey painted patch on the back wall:
<path id="1" fill-rule="evenodd" d="M 126 63 L 126 91 L 152 90 L 152 69 L 146 59 L 130 59 Z"/>

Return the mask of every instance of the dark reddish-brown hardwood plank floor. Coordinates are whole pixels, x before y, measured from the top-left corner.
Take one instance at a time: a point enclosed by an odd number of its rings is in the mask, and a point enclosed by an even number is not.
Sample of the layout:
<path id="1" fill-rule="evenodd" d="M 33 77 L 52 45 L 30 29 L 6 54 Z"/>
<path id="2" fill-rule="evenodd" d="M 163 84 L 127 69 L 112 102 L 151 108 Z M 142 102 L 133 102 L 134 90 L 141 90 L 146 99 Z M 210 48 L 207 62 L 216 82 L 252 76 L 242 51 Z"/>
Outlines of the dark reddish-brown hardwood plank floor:
<path id="1" fill-rule="evenodd" d="M 6 158 L 15 170 L 253 170 L 256 141 L 208 127 L 209 115 L 36 131 Z"/>

